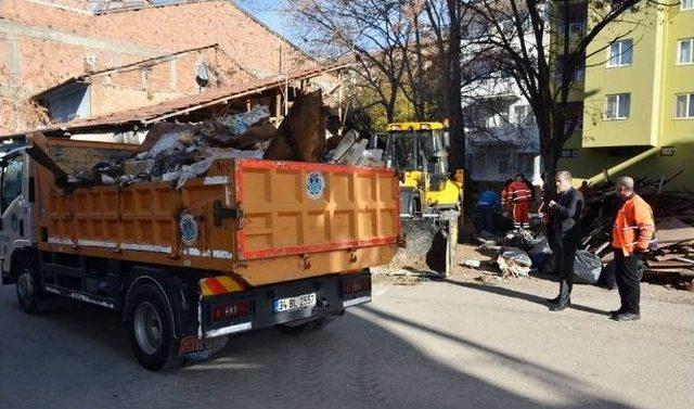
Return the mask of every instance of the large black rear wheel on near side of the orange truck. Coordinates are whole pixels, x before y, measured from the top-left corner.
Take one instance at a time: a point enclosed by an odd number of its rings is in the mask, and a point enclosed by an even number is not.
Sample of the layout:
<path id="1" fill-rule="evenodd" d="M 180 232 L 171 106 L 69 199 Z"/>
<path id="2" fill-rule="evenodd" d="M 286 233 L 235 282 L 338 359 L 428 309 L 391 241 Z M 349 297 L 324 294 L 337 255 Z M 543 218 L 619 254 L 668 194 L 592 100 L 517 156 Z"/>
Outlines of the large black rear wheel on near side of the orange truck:
<path id="1" fill-rule="evenodd" d="M 153 284 L 136 286 L 128 296 L 128 330 L 136 359 L 151 371 L 172 361 L 174 327 L 166 296 Z"/>

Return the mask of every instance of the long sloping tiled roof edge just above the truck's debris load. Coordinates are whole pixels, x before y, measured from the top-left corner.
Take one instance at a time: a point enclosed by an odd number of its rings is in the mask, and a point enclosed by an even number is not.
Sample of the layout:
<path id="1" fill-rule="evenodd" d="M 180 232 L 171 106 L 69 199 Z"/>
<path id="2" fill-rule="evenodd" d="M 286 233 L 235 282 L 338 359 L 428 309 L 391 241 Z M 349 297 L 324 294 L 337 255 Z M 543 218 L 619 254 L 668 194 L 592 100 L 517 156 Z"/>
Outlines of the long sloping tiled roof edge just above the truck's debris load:
<path id="1" fill-rule="evenodd" d="M 31 131 L 44 133 L 55 133 L 61 131 L 90 130 L 101 127 L 120 126 L 127 124 L 150 125 L 170 117 L 183 115 L 208 106 L 223 104 L 231 100 L 243 97 L 258 94 L 262 91 L 283 87 L 290 81 L 310 79 L 323 74 L 332 73 L 349 67 L 350 64 L 333 64 L 298 69 L 285 75 L 277 75 L 254 79 L 249 82 L 235 86 L 227 86 L 211 89 L 195 95 L 188 95 L 168 100 L 155 105 L 138 107 L 133 110 L 120 111 L 103 116 L 87 119 L 76 119 L 65 124 L 33 129 L 30 131 L 17 132 L 11 136 L 25 135 Z M 10 137 L 10 136 L 5 136 Z"/>

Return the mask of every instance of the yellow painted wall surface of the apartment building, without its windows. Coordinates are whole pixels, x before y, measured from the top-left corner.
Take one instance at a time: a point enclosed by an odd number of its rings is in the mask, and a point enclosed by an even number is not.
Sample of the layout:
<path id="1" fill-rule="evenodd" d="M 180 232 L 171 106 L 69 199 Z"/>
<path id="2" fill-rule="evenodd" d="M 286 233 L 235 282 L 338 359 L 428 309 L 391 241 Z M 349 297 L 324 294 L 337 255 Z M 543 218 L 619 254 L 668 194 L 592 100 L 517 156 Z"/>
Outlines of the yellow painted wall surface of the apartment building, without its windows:
<path id="1" fill-rule="evenodd" d="M 560 167 L 588 179 L 648 146 L 672 146 L 674 155 L 655 153 L 622 175 L 667 179 L 682 170 L 666 189 L 694 190 L 694 118 L 674 118 L 674 95 L 694 92 L 694 65 L 677 64 L 678 40 L 694 37 L 694 11 L 673 7 L 657 16 L 653 10 L 639 13 L 629 16 L 642 22 L 631 35 L 634 48 L 630 66 L 607 68 L 606 50 L 588 62 L 583 132 L 565 145 L 579 149 L 579 156 L 561 159 Z M 615 33 L 626 28 L 625 23 L 615 24 L 595 39 L 592 49 L 605 47 Z M 631 93 L 629 119 L 604 120 L 606 95 L 622 92 Z"/>

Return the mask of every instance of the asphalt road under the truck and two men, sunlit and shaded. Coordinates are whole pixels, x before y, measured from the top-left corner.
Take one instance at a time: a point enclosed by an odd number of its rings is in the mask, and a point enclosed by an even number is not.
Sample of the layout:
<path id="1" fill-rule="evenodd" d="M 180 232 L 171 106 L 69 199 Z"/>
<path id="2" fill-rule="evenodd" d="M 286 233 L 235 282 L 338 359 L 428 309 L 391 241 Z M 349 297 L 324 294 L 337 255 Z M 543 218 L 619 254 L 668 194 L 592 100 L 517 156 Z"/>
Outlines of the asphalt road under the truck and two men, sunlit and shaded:
<path id="1" fill-rule="evenodd" d="M 541 294 L 474 282 L 374 287 L 324 329 L 240 335 L 213 359 L 153 373 L 119 318 L 61 303 L 39 316 L 0 289 L 0 408 L 693 408 L 694 306 L 616 293 Z"/>

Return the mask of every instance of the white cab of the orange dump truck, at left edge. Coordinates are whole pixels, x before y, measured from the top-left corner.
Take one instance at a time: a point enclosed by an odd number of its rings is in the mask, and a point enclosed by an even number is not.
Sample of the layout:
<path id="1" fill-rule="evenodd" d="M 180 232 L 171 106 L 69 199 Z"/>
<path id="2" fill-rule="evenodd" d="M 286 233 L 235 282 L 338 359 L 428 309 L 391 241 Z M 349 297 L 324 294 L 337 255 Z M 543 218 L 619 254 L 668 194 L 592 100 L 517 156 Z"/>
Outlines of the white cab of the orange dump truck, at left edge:
<path id="1" fill-rule="evenodd" d="M 15 250 L 30 245 L 28 228 L 28 167 L 24 141 L 0 142 L 0 270 L 11 282 L 10 263 Z"/>

